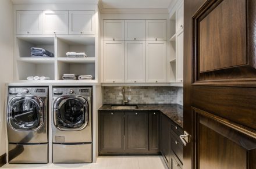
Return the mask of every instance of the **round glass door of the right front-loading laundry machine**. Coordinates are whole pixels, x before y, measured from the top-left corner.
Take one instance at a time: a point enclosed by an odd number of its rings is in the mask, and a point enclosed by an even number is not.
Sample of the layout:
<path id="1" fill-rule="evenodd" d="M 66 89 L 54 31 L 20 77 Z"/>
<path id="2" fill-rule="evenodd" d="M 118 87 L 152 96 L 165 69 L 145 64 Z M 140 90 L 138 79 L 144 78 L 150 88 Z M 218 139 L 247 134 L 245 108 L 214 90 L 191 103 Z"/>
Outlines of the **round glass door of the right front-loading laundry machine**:
<path id="1" fill-rule="evenodd" d="M 54 102 L 54 125 L 63 131 L 83 130 L 88 124 L 88 103 L 81 96 L 63 96 Z"/>

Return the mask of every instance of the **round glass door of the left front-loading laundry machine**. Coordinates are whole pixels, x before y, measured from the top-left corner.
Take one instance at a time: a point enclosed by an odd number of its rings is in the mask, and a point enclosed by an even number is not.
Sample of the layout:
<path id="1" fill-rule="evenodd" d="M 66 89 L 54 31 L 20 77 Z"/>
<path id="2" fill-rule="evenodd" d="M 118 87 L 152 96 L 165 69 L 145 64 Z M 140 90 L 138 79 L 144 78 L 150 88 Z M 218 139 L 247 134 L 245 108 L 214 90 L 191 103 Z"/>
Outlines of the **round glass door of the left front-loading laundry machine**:
<path id="1" fill-rule="evenodd" d="M 44 103 L 35 96 L 17 96 L 8 106 L 8 124 L 13 130 L 38 130 L 44 123 Z"/>

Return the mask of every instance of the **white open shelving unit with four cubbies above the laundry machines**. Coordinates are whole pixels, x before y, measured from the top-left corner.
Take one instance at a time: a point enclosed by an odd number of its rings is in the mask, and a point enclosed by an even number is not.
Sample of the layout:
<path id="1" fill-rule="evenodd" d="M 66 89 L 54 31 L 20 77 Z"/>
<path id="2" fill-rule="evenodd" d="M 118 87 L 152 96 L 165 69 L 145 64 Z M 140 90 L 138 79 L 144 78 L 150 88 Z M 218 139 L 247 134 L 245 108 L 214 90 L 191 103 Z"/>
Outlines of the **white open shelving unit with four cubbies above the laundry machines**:
<path id="1" fill-rule="evenodd" d="M 53 35 L 17 35 L 15 38 L 14 81 L 26 81 L 29 76 L 45 76 L 50 80 L 61 82 L 63 74 L 93 75 L 93 80 L 83 82 L 95 82 L 95 36 L 83 35 L 63 37 Z M 31 47 L 44 48 L 55 54 L 55 57 L 31 57 Z M 67 52 L 85 52 L 87 57 L 67 57 Z M 35 81 L 33 81 L 35 82 Z M 68 81 L 70 82 L 70 81 Z M 81 82 L 81 81 L 80 81 Z"/>

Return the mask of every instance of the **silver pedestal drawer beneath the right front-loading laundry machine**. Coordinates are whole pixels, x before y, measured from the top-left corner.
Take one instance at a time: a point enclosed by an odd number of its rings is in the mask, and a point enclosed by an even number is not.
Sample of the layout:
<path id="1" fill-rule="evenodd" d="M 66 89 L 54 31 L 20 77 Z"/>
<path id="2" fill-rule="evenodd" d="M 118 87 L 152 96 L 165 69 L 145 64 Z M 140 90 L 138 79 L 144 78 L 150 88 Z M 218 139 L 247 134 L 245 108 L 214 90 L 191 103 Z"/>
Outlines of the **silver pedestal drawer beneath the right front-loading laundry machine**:
<path id="1" fill-rule="evenodd" d="M 53 143 L 53 163 L 91 163 L 92 143 Z"/>

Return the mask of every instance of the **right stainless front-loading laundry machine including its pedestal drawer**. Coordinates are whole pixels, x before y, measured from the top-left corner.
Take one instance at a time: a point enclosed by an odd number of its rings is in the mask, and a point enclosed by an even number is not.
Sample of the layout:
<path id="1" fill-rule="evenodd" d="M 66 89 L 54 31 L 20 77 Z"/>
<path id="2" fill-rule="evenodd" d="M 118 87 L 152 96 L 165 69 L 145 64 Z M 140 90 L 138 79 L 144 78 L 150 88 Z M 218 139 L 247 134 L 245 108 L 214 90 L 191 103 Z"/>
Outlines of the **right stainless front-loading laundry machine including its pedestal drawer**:
<path id="1" fill-rule="evenodd" d="M 52 89 L 53 163 L 91 163 L 92 88 Z"/>

